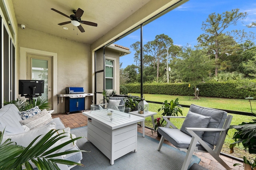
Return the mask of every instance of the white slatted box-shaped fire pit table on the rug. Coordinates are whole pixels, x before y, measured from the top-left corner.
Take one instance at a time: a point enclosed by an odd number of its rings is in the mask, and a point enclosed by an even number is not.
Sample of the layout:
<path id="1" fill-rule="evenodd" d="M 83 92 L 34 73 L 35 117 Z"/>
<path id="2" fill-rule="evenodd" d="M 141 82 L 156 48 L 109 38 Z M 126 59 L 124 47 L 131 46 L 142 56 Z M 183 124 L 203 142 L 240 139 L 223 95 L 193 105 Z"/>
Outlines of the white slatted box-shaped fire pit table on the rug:
<path id="1" fill-rule="evenodd" d="M 104 155 L 114 160 L 137 152 L 137 123 L 145 118 L 113 109 L 83 112 L 88 117 L 87 139 Z"/>

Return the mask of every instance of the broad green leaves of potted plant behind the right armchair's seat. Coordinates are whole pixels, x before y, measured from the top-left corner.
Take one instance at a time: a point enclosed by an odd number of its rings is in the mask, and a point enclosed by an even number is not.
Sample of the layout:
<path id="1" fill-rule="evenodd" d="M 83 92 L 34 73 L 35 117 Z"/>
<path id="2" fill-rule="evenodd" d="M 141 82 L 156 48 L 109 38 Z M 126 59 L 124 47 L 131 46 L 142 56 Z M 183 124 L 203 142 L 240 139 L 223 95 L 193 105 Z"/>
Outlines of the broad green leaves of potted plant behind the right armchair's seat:
<path id="1" fill-rule="evenodd" d="M 170 104 L 167 103 L 167 100 L 164 101 L 162 104 L 162 107 L 158 109 L 158 112 L 160 110 L 163 110 L 164 112 L 162 113 L 163 116 L 178 116 L 178 113 L 182 115 L 182 110 L 183 107 L 179 105 L 178 98 L 176 98 L 175 101 L 171 100 Z"/>

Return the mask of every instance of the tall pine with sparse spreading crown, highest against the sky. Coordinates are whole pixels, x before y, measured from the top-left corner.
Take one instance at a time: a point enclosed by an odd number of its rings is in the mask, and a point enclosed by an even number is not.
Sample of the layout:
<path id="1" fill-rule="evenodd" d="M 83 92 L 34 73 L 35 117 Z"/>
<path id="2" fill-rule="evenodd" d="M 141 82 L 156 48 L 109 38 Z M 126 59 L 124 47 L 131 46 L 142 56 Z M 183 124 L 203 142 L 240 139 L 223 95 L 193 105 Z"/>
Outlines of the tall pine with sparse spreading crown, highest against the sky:
<path id="1" fill-rule="evenodd" d="M 215 76 L 218 75 L 218 59 L 227 53 L 230 55 L 240 48 L 238 43 L 248 39 L 254 39 L 254 33 L 246 33 L 244 30 L 226 31 L 230 25 L 236 25 L 238 21 L 246 18 L 246 12 L 239 12 L 239 9 L 222 14 L 212 13 L 202 23 L 202 30 L 205 33 L 198 37 L 200 46 L 210 49 L 215 55 Z M 226 31 L 226 32 L 225 32 Z"/>

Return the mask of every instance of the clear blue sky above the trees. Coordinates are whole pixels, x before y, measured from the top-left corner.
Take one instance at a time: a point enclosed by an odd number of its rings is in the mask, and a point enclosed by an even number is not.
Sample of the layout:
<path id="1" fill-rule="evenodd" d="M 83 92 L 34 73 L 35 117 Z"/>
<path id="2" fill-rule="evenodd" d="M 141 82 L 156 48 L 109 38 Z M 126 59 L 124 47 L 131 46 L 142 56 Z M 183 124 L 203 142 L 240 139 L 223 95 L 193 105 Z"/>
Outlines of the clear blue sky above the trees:
<path id="1" fill-rule="evenodd" d="M 197 37 L 204 33 L 201 29 L 202 22 L 209 14 L 222 14 L 232 9 L 240 9 L 240 12 L 247 12 L 246 20 L 231 25 L 232 29 L 244 29 L 256 33 L 256 27 L 247 28 L 245 25 L 256 22 L 256 0 L 190 0 L 178 8 L 168 12 L 164 16 L 148 23 L 143 27 L 143 44 L 155 39 L 156 35 L 162 33 L 172 38 L 174 45 L 192 46 L 197 44 Z M 130 48 L 131 54 L 120 57 L 122 68 L 135 64 L 134 51 L 130 45 L 140 41 L 140 30 L 115 42 L 115 44 Z M 256 41 L 254 40 L 254 43 Z"/>

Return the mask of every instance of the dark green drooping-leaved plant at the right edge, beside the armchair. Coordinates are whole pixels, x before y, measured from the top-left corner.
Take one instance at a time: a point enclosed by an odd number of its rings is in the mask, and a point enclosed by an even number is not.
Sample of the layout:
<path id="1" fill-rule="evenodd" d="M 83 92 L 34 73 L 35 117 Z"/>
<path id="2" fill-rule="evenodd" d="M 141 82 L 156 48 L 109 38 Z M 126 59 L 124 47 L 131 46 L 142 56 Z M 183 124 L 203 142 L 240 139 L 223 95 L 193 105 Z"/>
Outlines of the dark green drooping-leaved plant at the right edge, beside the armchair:
<path id="1" fill-rule="evenodd" d="M 256 154 L 256 119 L 252 119 L 250 122 L 242 122 L 239 125 L 231 125 L 230 128 L 237 130 L 233 136 L 235 142 L 230 144 L 230 153 L 234 152 L 236 144 L 242 143 L 244 150 L 250 154 Z M 251 161 L 250 158 L 248 160 L 244 156 L 244 169 L 246 170 L 246 166 L 249 166 L 249 169 L 256 169 L 255 159 Z M 234 164 L 234 166 L 236 165 L 238 164 Z"/>

